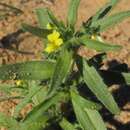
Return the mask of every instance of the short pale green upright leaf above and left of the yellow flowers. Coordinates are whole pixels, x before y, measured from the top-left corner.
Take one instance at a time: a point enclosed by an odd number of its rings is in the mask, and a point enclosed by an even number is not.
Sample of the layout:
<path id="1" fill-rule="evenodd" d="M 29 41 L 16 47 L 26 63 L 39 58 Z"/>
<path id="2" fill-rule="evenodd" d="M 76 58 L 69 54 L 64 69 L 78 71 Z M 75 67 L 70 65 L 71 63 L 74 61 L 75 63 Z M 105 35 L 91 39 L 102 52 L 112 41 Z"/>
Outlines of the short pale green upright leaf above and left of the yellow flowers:
<path id="1" fill-rule="evenodd" d="M 47 8 L 36 9 L 36 14 L 41 28 L 47 28 L 47 24 L 52 23 Z"/>

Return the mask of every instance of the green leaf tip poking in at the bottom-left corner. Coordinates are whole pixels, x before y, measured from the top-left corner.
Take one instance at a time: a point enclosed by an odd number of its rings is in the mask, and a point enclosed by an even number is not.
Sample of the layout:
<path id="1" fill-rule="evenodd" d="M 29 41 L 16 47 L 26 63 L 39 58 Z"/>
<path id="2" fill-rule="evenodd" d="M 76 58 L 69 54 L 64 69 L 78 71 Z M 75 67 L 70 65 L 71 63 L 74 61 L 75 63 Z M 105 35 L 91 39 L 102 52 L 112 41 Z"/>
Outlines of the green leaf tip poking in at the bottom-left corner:
<path id="1" fill-rule="evenodd" d="M 16 126 L 18 123 L 12 117 L 6 116 L 3 113 L 0 113 L 0 126 L 4 126 L 6 128 L 11 128 Z"/>

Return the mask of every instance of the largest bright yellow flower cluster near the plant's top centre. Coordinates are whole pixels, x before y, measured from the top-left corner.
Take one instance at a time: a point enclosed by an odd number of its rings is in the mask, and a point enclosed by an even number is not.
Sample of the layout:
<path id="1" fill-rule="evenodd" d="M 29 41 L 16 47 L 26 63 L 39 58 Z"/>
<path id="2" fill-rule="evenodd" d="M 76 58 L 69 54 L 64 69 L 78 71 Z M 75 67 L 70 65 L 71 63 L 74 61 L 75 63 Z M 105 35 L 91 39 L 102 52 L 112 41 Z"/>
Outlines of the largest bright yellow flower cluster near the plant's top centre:
<path id="1" fill-rule="evenodd" d="M 47 53 L 54 52 L 63 44 L 63 39 L 60 38 L 60 33 L 56 30 L 49 34 L 47 39 L 49 41 L 47 47 L 45 48 Z"/>

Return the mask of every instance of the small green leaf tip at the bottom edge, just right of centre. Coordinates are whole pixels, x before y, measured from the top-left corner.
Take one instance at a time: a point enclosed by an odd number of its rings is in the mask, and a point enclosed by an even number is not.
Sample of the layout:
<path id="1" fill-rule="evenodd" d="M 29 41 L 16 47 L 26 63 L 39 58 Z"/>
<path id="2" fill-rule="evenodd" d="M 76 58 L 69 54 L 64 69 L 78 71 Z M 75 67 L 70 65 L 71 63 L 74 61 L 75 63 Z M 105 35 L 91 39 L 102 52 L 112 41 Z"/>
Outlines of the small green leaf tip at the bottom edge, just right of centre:
<path id="1" fill-rule="evenodd" d="M 65 118 L 60 121 L 60 126 L 63 130 L 76 130 L 74 125 L 67 121 Z"/>

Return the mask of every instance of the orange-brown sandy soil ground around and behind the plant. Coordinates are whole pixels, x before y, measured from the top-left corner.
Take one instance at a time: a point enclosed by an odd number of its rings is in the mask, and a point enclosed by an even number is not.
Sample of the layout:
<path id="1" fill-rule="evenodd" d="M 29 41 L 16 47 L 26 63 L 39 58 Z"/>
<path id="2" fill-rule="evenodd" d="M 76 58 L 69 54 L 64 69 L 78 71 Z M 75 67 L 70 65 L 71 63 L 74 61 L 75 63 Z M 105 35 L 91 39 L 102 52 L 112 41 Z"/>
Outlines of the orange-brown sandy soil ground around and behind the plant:
<path id="1" fill-rule="evenodd" d="M 22 15 L 10 16 L 6 20 L 0 21 L 0 39 L 8 34 L 16 32 L 21 27 L 21 23 L 37 24 L 35 9 L 39 7 L 49 7 L 56 16 L 65 21 L 67 14 L 67 5 L 69 0 L 1 0 L 1 2 L 12 4 L 24 11 Z M 107 0 L 81 0 L 77 27 L 86 21 L 96 10 Z M 121 0 L 112 13 L 129 10 L 130 0 Z M 102 34 L 106 41 L 123 46 L 120 52 L 108 53 L 108 62 L 116 60 L 120 63 L 126 63 L 130 67 L 130 18 L 109 29 Z M 19 36 L 19 50 L 33 52 L 33 54 L 18 54 L 8 49 L 0 49 L 0 64 L 10 64 L 28 60 L 35 60 L 41 57 L 43 44 L 40 39 L 30 34 L 21 34 Z M 95 54 L 95 51 L 83 49 L 84 55 Z M 106 120 L 110 130 L 130 130 L 130 88 L 129 86 L 117 87 L 114 93 L 121 113 L 118 116 L 110 116 Z M 123 101 L 122 101 L 123 100 Z M 120 103 L 121 102 L 121 103 Z M 0 103 L 0 111 L 11 113 L 13 111 L 13 102 Z"/>

